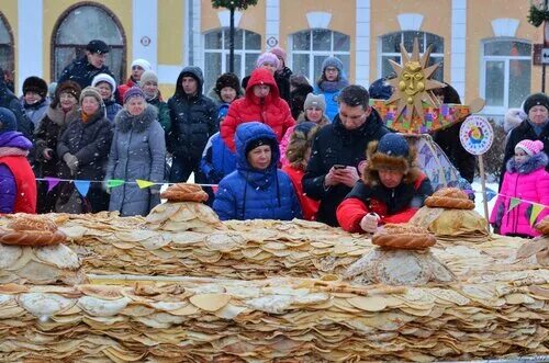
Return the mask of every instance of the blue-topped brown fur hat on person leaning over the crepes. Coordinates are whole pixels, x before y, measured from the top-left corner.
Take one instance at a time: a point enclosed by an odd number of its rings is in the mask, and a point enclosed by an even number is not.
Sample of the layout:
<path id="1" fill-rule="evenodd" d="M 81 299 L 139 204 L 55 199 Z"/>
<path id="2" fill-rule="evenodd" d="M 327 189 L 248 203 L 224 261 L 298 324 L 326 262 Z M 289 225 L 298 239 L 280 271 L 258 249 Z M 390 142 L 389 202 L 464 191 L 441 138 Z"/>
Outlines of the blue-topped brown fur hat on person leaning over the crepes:
<path id="1" fill-rule="evenodd" d="M 415 147 L 410 146 L 399 134 L 389 133 L 379 141 L 371 141 L 366 151 L 368 163 L 362 177 L 365 183 L 379 184 L 379 170 L 401 171 L 404 183 L 414 182 L 421 173 L 415 162 L 416 154 Z"/>

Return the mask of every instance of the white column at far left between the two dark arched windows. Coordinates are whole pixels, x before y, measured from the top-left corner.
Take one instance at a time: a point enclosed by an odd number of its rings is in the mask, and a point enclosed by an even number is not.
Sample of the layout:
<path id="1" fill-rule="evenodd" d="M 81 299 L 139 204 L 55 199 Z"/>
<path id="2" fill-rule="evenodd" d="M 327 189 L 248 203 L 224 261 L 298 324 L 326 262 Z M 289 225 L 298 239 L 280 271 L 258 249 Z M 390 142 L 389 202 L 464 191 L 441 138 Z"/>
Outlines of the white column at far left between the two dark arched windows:
<path id="1" fill-rule="evenodd" d="M 18 83 L 15 94 L 21 93 L 25 78 L 44 77 L 43 0 L 18 1 Z M 48 81 L 48 80 L 46 80 Z"/>

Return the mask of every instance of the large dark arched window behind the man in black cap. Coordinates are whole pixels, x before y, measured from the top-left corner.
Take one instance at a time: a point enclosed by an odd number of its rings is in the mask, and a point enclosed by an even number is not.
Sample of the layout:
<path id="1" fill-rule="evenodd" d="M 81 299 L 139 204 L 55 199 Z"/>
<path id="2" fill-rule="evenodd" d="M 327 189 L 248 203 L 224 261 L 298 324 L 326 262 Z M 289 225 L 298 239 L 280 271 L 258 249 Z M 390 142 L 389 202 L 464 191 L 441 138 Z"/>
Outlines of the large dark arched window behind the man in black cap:
<path id="1" fill-rule="evenodd" d="M 59 19 L 53 39 L 53 79 L 57 80 L 75 58 L 82 57 L 86 45 L 92 39 L 101 39 L 109 45 L 107 65 L 116 81 L 124 81 L 125 36 L 116 16 L 102 5 L 72 7 Z"/>

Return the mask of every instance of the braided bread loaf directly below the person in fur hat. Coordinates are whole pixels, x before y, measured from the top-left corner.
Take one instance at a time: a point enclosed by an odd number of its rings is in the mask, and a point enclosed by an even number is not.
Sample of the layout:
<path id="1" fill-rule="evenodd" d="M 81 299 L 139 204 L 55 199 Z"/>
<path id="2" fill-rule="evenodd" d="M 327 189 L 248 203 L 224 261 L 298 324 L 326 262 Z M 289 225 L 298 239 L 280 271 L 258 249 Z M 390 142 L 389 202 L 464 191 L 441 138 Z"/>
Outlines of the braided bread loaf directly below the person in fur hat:
<path id="1" fill-rule="evenodd" d="M 423 250 L 436 242 L 427 229 L 408 224 L 386 224 L 372 237 L 373 245 L 391 249 Z"/>

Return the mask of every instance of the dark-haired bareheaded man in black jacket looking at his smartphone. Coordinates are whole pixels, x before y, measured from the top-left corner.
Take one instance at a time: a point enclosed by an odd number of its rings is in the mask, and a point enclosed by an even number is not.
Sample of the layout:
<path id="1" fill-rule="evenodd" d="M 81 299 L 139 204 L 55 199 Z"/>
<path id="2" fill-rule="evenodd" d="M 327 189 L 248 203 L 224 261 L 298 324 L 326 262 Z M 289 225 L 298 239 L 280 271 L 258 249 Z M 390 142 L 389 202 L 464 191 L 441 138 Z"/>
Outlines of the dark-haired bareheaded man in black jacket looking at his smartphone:
<path id="1" fill-rule="evenodd" d="M 369 105 L 368 91 L 348 86 L 339 93 L 339 114 L 317 134 L 311 151 L 303 191 L 321 202 L 316 220 L 338 227 L 337 206 L 360 179 L 358 168 L 368 143 L 390 131 Z"/>

